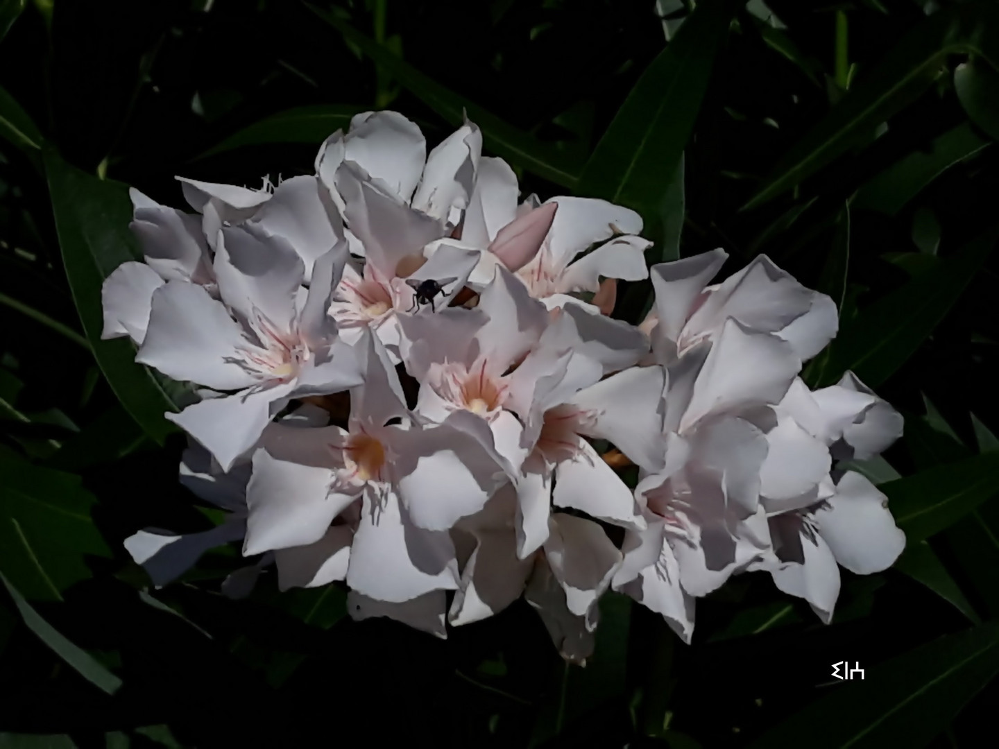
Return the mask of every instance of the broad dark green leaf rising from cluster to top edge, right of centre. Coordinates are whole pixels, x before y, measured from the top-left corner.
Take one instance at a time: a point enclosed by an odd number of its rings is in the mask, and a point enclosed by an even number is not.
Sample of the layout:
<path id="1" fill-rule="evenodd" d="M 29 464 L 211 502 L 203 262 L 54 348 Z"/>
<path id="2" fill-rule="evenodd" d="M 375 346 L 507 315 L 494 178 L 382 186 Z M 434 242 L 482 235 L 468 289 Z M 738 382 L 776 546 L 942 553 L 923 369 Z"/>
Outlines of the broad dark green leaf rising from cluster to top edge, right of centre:
<path id="1" fill-rule="evenodd" d="M 577 194 L 658 218 L 737 5 L 697 4 L 617 110 L 582 170 Z"/>

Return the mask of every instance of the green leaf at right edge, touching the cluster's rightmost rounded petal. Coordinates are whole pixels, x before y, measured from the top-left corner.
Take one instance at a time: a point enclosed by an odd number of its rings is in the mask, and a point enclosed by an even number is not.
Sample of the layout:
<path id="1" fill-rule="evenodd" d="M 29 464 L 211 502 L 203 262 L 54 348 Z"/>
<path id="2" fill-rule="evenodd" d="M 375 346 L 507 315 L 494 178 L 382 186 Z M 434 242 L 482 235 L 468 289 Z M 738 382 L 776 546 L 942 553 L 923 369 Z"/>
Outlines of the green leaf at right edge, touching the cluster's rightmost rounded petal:
<path id="1" fill-rule="evenodd" d="M 999 486 L 999 453 L 935 465 L 881 484 L 908 543 L 939 533 L 974 510 Z"/>

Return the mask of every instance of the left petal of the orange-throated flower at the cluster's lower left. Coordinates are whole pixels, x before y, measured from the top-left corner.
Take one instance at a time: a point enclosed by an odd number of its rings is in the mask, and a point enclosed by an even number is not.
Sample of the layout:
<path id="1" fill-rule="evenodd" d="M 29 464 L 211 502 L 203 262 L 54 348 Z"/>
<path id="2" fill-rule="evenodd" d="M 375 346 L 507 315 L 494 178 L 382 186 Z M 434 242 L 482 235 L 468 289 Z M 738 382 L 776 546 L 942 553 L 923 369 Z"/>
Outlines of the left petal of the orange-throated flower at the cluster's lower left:
<path id="1" fill-rule="evenodd" d="M 355 501 L 331 492 L 329 467 L 279 460 L 265 449 L 253 456 L 247 486 L 246 556 L 318 542 L 333 518 Z"/>

